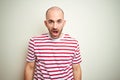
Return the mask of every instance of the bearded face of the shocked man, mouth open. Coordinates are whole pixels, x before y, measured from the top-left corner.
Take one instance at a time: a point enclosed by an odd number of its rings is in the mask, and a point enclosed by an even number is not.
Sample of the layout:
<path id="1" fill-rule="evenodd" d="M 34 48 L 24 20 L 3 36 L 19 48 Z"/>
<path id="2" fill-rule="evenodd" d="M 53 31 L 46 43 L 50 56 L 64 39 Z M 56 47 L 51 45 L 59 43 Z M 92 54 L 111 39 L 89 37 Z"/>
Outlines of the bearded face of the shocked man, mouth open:
<path id="1" fill-rule="evenodd" d="M 64 24 L 64 14 L 61 10 L 51 9 L 48 11 L 46 14 L 45 25 L 52 38 L 56 39 L 61 36 Z"/>

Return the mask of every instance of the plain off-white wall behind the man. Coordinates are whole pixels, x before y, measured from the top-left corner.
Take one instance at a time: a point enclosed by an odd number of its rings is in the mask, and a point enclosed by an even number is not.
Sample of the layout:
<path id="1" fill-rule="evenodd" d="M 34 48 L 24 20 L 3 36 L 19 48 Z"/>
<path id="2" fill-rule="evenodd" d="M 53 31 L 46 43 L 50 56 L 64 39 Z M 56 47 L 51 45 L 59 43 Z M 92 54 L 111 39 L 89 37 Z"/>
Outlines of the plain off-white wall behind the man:
<path id="1" fill-rule="evenodd" d="M 0 80 L 23 80 L 28 41 L 47 32 L 51 6 L 80 43 L 83 80 L 120 80 L 120 0 L 0 0 Z"/>

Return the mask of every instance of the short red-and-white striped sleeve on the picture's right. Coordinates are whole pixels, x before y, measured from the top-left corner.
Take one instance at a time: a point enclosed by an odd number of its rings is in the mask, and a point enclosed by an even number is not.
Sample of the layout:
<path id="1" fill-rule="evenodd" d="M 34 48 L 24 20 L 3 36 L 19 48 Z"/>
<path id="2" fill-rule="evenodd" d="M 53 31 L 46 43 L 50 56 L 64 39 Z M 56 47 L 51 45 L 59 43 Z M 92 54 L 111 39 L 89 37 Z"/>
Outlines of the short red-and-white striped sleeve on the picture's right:
<path id="1" fill-rule="evenodd" d="M 75 48 L 75 53 L 74 53 L 74 59 L 73 59 L 73 64 L 78 64 L 80 63 L 81 60 L 81 54 L 80 54 L 80 47 L 79 44 L 77 42 L 76 44 L 76 48 Z"/>

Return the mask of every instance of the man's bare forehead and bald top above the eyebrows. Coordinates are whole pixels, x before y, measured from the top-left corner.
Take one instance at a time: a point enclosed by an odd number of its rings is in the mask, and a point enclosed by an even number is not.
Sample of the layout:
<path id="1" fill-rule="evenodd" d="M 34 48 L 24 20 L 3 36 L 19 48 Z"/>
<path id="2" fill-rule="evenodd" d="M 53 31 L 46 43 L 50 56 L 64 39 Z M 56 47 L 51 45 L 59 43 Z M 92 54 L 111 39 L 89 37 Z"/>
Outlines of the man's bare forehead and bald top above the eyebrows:
<path id="1" fill-rule="evenodd" d="M 51 8 L 46 12 L 46 19 L 58 20 L 64 19 L 64 13 L 59 8 Z"/>

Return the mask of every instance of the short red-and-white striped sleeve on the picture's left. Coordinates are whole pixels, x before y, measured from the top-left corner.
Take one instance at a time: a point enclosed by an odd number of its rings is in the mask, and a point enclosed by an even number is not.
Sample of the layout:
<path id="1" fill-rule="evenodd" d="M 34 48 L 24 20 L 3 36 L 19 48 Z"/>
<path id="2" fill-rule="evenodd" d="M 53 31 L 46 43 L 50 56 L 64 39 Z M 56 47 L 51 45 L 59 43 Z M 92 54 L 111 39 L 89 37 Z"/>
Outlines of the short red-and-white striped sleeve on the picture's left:
<path id="1" fill-rule="evenodd" d="M 27 52 L 26 61 L 28 62 L 35 61 L 34 48 L 35 48 L 34 40 L 33 38 L 31 38 L 28 44 L 28 52 Z"/>

